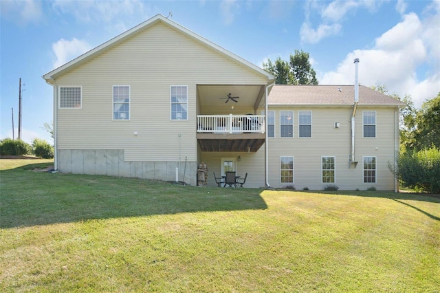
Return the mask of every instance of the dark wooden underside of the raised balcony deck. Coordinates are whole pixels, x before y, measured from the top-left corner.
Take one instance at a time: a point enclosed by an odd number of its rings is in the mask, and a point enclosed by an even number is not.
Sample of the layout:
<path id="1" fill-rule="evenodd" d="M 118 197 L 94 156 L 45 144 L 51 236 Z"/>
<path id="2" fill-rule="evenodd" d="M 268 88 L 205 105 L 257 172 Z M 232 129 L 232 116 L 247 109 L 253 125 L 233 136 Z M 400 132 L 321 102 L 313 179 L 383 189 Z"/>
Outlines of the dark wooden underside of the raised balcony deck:
<path id="1" fill-rule="evenodd" d="M 265 134 L 248 133 L 239 138 L 236 134 L 215 135 L 212 133 L 197 133 L 197 142 L 201 151 L 230 151 L 255 153 L 265 142 Z"/>

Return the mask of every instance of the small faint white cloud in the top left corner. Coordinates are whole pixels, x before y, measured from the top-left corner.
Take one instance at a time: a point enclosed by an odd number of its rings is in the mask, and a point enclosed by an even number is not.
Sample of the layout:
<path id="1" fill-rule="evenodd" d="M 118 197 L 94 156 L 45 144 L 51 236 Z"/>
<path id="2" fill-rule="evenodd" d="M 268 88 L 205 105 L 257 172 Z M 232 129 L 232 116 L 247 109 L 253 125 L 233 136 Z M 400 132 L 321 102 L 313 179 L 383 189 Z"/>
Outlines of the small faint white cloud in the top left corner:
<path id="1" fill-rule="evenodd" d="M 20 25 L 28 23 L 39 23 L 43 20 L 43 9 L 41 1 L 9 1 L 1 0 L 1 17 L 5 17 Z"/>

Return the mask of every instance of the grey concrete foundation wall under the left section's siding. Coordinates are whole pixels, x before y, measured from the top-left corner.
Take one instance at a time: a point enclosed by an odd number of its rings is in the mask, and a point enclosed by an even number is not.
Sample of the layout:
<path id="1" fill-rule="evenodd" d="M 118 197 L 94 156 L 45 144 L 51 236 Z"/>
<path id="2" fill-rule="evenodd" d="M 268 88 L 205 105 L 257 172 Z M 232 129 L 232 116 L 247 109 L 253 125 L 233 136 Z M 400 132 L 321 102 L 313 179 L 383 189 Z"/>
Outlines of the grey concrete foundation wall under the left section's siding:
<path id="1" fill-rule="evenodd" d="M 124 150 L 58 150 L 58 171 L 175 181 L 179 162 L 126 162 Z M 186 166 L 185 166 L 186 164 Z M 180 162 L 179 181 L 197 184 L 197 162 Z"/>

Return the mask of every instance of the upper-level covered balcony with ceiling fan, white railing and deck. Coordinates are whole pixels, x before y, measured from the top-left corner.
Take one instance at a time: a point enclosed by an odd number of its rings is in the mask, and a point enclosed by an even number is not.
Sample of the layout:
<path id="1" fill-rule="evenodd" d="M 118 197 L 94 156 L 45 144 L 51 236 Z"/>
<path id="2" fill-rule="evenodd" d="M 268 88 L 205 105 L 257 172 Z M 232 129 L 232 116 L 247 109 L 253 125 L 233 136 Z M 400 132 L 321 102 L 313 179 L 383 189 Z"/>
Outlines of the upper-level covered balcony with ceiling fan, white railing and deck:
<path id="1" fill-rule="evenodd" d="M 197 85 L 202 152 L 255 153 L 265 142 L 267 85 Z"/>

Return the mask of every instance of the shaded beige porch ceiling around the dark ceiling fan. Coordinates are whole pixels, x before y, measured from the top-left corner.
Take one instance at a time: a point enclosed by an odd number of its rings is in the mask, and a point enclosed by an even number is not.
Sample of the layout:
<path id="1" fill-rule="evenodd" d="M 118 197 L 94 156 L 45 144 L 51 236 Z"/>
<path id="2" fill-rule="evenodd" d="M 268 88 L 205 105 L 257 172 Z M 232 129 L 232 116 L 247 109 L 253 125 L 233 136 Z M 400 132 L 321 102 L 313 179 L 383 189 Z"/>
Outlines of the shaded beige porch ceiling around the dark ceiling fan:
<path id="1" fill-rule="evenodd" d="M 264 105 L 263 85 L 198 85 L 197 94 L 201 107 L 256 107 Z M 231 96 L 239 96 L 238 102 L 230 100 L 225 104 L 225 99 Z"/>

